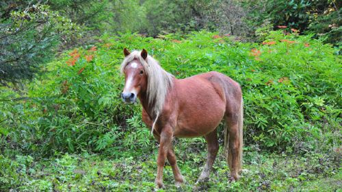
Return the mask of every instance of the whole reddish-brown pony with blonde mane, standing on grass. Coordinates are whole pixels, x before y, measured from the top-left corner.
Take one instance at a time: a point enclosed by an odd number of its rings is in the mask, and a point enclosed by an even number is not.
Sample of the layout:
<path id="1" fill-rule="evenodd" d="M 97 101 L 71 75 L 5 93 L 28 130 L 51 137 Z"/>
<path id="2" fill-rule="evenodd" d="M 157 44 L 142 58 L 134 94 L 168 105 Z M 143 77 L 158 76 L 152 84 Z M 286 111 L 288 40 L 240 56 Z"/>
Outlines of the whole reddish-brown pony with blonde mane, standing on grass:
<path id="1" fill-rule="evenodd" d="M 222 119 L 226 121 L 224 152 L 231 179 L 239 179 L 243 145 L 243 100 L 239 84 L 214 71 L 177 80 L 148 56 L 145 49 L 132 53 L 124 49 L 124 56 L 121 64 L 125 77 L 122 99 L 127 104 L 140 99 L 142 120 L 160 143 L 155 178 L 157 187 L 164 187 L 166 158 L 172 167 L 176 186 L 184 181 L 172 147 L 174 136 L 205 136 L 208 143 L 207 162 L 196 183 L 209 178 L 218 154 L 217 127 Z"/>

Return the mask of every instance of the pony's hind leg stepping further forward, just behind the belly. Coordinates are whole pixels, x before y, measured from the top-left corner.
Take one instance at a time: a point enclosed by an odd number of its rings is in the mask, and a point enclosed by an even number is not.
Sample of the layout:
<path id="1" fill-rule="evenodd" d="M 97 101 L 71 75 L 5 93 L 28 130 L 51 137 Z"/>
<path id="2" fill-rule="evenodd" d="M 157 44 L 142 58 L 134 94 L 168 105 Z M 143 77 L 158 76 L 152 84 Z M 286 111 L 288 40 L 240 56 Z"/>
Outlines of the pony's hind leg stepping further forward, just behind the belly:
<path id="1" fill-rule="evenodd" d="M 202 173 L 200 173 L 200 177 L 198 178 L 196 183 L 203 182 L 209 178 L 209 174 L 211 168 L 213 167 L 213 163 L 215 161 L 216 155 L 218 154 L 218 134 L 217 129 L 213 130 L 209 134 L 205 135 L 205 140 L 207 141 L 207 162 L 205 163 L 205 167 L 203 167 Z"/>

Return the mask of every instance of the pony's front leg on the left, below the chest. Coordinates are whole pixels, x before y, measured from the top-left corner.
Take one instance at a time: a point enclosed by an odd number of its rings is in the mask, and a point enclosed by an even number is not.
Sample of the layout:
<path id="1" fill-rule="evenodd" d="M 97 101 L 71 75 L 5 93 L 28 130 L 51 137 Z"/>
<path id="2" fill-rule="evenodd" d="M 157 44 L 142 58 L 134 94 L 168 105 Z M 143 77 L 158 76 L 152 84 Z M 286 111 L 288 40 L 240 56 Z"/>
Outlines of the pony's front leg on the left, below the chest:
<path id="1" fill-rule="evenodd" d="M 157 177 L 155 178 L 155 184 L 158 188 L 163 188 L 163 168 L 165 165 L 165 160 L 168 155 L 168 149 L 172 145 L 172 128 L 166 126 L 161 130 L 160 134 L 160 146 L 157 159 Z"/>

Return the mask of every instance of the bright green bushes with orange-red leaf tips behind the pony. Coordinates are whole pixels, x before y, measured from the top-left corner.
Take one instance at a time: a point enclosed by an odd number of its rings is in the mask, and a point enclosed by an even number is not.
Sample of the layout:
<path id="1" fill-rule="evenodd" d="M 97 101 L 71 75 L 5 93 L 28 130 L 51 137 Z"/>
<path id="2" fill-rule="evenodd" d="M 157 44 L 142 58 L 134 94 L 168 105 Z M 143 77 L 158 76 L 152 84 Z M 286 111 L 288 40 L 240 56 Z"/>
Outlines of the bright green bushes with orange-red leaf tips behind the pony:
<path id="1" fill-rule="evenodd" d="M 220 71 L 239 82 L 245 101 L 245 143 L 308 152 L 341 145 L 341 56 L 311 36 L 272 32 L 261 44 L 209 32 L 144 38 L 103 36 L 44 69 L 25 102 L 1 90 L 1 145 L 42 154 L 92 151 L 118 155 L 150 151 L 140 106 L 120 100 L 122 49 L 145 48 L 178 78 Z M 7 98 L 7 99 L 6 99 Z M 326 145 L 318 145 L 325 143 Z M 7 146 L 7 147 L 6 147 Z"/>

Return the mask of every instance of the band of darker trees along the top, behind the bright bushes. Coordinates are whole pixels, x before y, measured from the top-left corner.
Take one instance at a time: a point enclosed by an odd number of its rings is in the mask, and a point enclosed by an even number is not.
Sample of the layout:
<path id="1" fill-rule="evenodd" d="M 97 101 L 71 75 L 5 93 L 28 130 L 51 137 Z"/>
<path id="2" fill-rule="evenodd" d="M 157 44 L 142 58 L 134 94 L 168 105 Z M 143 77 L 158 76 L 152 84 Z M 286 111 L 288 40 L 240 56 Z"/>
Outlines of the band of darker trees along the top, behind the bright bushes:
<path id="1" fill-rule="evenodd" d="M 94 43 L 104 32 L 157 37 L 202 29 L 261 42 L 270 29 L 315 34 L 341 44 L 339 1 L 86 0 L 0 3 L 0 83 L 31 80 L 58 50 Z M 265 33 L 266 32 L 266 33 Z"/>

